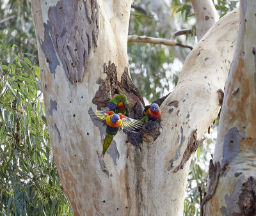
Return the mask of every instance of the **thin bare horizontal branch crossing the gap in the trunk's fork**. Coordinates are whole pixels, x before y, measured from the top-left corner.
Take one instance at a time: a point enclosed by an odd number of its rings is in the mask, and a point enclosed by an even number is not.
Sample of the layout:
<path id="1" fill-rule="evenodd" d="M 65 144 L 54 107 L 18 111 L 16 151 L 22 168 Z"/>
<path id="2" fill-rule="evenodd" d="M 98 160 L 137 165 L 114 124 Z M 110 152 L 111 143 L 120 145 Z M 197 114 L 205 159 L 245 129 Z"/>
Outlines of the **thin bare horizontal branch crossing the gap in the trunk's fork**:
<path id="1" fill-rule="evenodd" d="M 167 46 L 180 46 L 193 49 L 189 45 L 184 45 L 182 43 L 177 43 L 175 40 L 168 40 L 165 38 L 152 38 L 148 36 L 138 36 L 138 35 L 128 35 L 128 42 L 140 42 L 140 43 L 154 43 L 154 44 L 163 44 Z"/>

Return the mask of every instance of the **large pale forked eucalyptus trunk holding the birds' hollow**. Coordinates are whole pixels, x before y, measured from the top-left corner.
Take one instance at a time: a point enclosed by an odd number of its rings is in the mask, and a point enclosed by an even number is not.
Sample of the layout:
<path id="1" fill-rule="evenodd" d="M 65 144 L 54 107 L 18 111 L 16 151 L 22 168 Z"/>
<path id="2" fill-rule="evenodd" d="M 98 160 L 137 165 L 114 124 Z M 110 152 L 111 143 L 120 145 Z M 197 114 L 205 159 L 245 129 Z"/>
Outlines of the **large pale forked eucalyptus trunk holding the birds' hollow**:
<path id="1" fill-rule="evenodd" d="M 132 118 L 143 99 L 129 75 L 131 1 L 31 1 L 45 114 L 54 160 L 74 215 L 182 215 L 191 156 L 220 111 L 234 53 L 237 12 L 219 20 L 191 51 L 161 125 L 118 132 L 104 160 L 105 128 L 89 109 L 128 96 Z"/>

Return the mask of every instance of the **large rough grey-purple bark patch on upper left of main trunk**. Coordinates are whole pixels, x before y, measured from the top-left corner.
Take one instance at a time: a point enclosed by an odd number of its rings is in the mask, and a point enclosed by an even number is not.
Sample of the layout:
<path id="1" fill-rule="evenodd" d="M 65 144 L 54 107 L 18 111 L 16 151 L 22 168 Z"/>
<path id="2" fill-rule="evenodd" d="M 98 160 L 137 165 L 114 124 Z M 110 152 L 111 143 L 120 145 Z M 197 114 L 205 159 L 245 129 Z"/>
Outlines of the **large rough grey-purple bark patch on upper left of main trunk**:
<path id="1" fill-rule="evenodd" d="M 56 6 L 49 8 L 48 17 L 47 24 L 44 23 L 47 40 L 41 47 L 46 58 L 49 52 L 54 57 L 51 73 L 55 76 L 57 52 L 68 80 L 73 83 L 82 82 L 92 48 L 97 46 L 99 33 L 97 1 L 74 0 L 72 3 L 68 0 L 58 1 Z M 49 61 L 52 61 L 52 58 L 49 58 Z"/>

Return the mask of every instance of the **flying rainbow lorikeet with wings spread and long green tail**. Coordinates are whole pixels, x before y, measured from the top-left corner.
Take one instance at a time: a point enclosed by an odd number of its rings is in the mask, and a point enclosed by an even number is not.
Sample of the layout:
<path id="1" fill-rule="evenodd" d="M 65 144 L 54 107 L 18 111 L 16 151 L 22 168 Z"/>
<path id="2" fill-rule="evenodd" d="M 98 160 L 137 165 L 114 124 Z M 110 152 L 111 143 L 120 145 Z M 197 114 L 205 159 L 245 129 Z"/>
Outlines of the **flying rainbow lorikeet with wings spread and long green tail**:
<path id="1" fill-rule="evenodd" d="M 101 156 L 104 157 L 108 150 L 114 136 L 117 134 L 118 129 L 121 127 L 127 130 L 135 130 L 142 127 L 143 123 L 132 118 L 124 116 L 122 113 L 115 114 L 113 111 L 92 111 L 95 119 L 103 121 L 106 125 L 106 137 L 104 139 L 103 150 Z"/>

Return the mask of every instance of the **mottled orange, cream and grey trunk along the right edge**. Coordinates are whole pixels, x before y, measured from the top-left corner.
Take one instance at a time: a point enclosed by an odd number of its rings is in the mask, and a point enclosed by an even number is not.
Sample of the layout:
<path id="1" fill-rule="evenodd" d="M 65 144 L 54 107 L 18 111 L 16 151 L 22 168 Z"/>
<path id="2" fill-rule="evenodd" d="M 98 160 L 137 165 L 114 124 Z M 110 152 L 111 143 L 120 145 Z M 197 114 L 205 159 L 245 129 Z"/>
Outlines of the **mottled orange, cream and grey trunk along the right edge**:
<path id="1" fill-rule="evenodd" d="M 206 196 L 211 194 L 211 198 L 205 203 L 204 215 L 256 214 L 256 2 L 240 1 L 240 7 L 236 52 L 213 157 L 218 169 L 213 170 L 215 180 L 207 182 Z"/>

